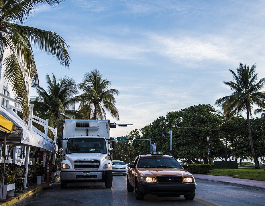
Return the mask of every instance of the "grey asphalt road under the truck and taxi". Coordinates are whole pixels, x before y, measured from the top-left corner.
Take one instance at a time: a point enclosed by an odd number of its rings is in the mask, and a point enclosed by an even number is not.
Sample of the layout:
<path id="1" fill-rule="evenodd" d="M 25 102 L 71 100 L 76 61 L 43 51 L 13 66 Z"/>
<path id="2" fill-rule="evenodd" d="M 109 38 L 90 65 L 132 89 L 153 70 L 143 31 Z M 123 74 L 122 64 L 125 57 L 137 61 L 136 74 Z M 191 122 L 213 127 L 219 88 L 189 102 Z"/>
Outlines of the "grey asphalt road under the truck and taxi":
<path id="1" fill-rule="evenodd" d="M 114 176 L 113 187 L 106 189 L 104 183 L 68 183 L 67 189 L 60 188 L 60 182 L 53 189 L 42 190 L 36 196 L 27 198 L 16 206 L 256 206 L 265 205 L 265 191 L 246 189 L 207 181 L 196 181 L 195 199 L 187 201 L 183 196 L 162 198 L 146 195 L 136 200 L 135 193 L 127 193 L 126 177 Z"/>

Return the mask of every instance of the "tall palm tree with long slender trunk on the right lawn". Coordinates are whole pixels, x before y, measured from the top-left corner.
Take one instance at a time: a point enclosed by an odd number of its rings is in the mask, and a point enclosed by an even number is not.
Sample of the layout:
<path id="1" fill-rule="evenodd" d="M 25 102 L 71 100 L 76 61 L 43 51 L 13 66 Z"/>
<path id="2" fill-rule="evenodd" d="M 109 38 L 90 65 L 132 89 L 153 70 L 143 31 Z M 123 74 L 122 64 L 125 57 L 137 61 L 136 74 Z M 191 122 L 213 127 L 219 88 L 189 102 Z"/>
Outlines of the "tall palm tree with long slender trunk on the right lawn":
<path id="1" fill-rule="evenodd" d="M 252 117 L 252 107 L 253 104 L 257 104 L 261 108 L 264 108 L 265 92 L 260 92 L 265 84 L 265 78 L 260 79 L 258 82 L 258 73 L 255 71 L 256 64 L 252 65 L 250 68 L 246 64 L 243 65 L 239 63 L 239 67 L 236 73 L 233 70 L 229 70 L 232 73 L 233 82 L 223 82 L 225 85 L 229 86 L 232 90 L 231 95 L 225 96 L 223 98 L 217 99 L 216 105 L 223 105 L 226 108 L 225 113 L 240 114 L 246 111 L 247 122 L 248 122 L 248 136 L 250 147 L 252 151 L 252 156 L 254 158 L 255 168 L 258 167 L 258 162 L 256 160 L 256 155 L 252 143 L 252 135 L 250 128 L 250 116 Z"/>

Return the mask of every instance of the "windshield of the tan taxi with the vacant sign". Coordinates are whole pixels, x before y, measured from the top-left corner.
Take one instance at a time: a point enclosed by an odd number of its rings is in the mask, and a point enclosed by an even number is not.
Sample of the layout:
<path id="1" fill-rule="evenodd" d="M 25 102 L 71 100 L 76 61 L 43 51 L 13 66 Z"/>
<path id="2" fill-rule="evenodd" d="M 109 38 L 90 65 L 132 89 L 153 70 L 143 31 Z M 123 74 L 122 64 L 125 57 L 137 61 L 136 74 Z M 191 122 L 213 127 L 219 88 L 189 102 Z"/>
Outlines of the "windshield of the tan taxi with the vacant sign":
<path id="1" fill-rule="evenodd" d="M 141 157 L 138 168 L 179 168 L 180 163 L 173 157 Z"/>

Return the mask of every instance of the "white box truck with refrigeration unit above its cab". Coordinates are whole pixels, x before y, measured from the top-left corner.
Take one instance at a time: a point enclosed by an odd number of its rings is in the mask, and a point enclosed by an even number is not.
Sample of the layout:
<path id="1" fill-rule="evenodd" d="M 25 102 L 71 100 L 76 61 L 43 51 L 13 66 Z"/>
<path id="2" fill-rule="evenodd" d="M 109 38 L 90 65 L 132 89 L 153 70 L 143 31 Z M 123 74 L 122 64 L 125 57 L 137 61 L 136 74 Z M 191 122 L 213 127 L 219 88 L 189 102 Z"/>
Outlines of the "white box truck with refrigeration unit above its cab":
<path id="1" fill-rule="evenodd" d="M 111 188 L 109 132 L 110 120 L 64 120 L 61 188 L 70 182 L 105 182 Z"/>

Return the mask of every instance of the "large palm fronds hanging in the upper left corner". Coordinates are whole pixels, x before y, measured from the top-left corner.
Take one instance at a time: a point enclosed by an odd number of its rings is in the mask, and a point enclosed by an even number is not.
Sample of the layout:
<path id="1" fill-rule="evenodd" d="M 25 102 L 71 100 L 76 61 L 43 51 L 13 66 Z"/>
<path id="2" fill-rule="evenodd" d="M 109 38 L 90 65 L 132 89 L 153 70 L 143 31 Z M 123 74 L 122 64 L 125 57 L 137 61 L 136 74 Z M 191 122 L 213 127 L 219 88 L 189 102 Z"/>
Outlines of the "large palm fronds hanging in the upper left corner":
<path id="1" fill-rule="evenodd" d="M 33 57 L 32 43 L 41 51 L 54 56 L 61 65 L 69 68 L 70 57 L 68 45 L 57 33 L 28 27 L 24 21 L 32 14 L 40 3 L 49 6 L 60 4 L 65 0 L 0 0 L 0 63 L 5 68 L 5 76 L 12 83 L 17 100 L 21 103 L 23 116 L 28 120 L 28 94 L 23 73 L 19 66 L 19 55 L 25 61 L 25 75 L 38 84 L 38 74 Z M 11 54 L 3 59 L 5 49 Z"/>

